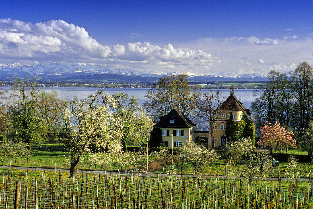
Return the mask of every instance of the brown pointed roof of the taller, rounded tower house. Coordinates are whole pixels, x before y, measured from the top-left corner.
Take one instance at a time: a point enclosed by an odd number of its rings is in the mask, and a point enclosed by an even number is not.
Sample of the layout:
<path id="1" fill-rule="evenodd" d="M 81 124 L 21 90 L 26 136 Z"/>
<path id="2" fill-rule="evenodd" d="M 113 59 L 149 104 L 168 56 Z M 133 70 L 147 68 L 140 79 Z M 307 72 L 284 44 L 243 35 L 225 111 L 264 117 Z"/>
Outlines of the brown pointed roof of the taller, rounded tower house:
<path id="1" fill-rule="evenodd" d="M 251 111 L 246 109 L 242 102 L 237 99 L 233 94 L 230 94 L 229 97 L 222 103 L 221 109 L 224 110 L 234 110 L 234 111 L 244 111 L 245 115 L 251 120 L 254 121 L 254 118 L 251 116 Z"/>

